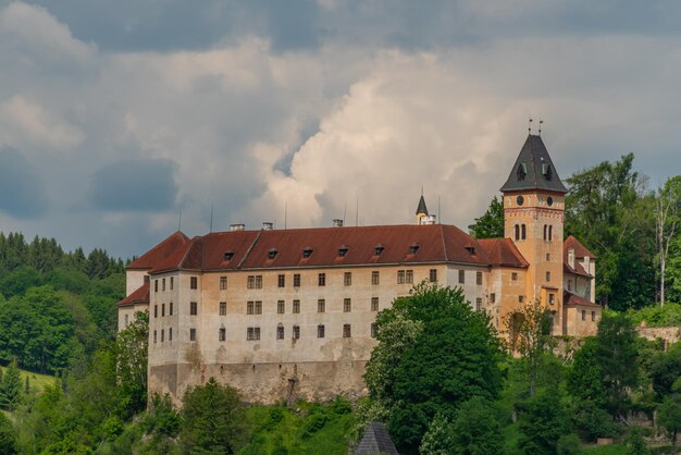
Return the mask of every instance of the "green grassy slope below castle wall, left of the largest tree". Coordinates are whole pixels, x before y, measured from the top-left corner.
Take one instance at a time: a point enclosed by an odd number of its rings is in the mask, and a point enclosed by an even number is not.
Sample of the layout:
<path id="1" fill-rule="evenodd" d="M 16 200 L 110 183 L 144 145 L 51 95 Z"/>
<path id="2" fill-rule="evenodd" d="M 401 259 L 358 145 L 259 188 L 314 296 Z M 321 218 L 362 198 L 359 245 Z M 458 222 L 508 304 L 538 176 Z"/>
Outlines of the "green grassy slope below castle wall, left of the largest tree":
<path id="1" fill-rule="evenodd" d="M 238 455 L 348 453 L 352 414 L 344 406 L 299 403 L 294 409 L 253 406 L 248 409 L 253 433 Z"/>

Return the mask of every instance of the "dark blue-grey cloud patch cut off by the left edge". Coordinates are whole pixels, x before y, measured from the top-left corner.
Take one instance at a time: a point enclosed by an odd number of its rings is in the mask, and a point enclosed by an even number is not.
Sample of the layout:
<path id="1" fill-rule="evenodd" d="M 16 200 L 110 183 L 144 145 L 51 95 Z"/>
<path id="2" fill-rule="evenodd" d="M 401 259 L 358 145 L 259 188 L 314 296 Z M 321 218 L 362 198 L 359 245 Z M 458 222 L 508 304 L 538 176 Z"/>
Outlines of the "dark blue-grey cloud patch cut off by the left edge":
<path id="1" fill-rule="evenodd" d="M 0 210 L 15 218 L 34 218 L 48 205 L 42 180 L 17 150 L 0 148 Z"/>

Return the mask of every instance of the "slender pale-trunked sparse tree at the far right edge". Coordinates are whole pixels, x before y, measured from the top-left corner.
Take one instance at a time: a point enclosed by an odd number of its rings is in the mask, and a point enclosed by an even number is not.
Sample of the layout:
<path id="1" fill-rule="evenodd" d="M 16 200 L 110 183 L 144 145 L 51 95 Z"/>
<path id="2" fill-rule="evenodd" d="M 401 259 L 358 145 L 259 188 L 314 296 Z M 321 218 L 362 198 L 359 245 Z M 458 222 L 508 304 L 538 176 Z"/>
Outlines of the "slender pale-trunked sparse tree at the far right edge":
<path id="1" fill-rule="evenodd" d="M 659 261 L 659 305 L 665 305 L 665 282 L 669 247 L 677 235 L 681 210 L 681 176 L 669 179 L 657 192 L 655 230 Z"/>

